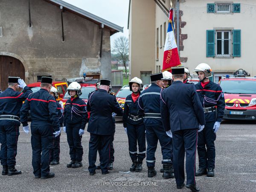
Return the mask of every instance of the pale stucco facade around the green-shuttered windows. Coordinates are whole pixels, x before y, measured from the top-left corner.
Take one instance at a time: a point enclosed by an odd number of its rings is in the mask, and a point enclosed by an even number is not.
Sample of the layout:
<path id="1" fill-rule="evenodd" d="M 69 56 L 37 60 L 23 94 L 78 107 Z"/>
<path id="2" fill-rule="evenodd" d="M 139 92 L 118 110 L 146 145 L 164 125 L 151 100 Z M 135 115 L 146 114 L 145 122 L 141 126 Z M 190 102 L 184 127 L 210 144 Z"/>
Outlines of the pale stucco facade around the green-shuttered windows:
<path id="1" fill-rule="evenodd" d="M 182 33 L 188 35 L 188 38 L 183 41 L 184 50 L 180 51 L 180 57 L 188 58 L 184 65 L 189 67 L 190 72 L 199 63 L 204 62 L 209 64 L 215 72 L 234 72 L 239 68 L 243 68 L 251 76 L 256 76 L 256 67 L 254 67 L 256 56 L 253 53 L 256 42 L 256 36 L 253 35 L 256 27 L 254 19 L 256 16 L 256 1 L 226 2 L 241 3 L 241 12 L 230 14 L 207 13 L 207 3 L 215 3 L 214 0 L 186 0 L 180 3 L 180 10 L 183 11 L 182 20 L 186 21 L 186 26 L 182 28 Z M 241 57 L 206 57 L 206 30 L 216 28 L 241 29 Z M 231 45 L 231 52 L 232 47 Z"/>

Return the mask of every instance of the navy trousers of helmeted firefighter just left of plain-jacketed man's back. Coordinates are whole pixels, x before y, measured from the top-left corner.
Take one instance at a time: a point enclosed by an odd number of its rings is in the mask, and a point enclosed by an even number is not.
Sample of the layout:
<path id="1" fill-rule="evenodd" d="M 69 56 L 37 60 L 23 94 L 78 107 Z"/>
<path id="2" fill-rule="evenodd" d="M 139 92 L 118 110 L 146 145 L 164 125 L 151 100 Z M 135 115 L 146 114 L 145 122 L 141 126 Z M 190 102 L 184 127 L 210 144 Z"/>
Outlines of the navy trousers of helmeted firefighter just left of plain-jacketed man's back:
<path id="1" fill-rule="evenodd" d="M 70 147 L 70 158 L 73 161 L 83 159 L 82 136 L 79 135 L 81 124 L 66 124 L 67 143 Z"/>

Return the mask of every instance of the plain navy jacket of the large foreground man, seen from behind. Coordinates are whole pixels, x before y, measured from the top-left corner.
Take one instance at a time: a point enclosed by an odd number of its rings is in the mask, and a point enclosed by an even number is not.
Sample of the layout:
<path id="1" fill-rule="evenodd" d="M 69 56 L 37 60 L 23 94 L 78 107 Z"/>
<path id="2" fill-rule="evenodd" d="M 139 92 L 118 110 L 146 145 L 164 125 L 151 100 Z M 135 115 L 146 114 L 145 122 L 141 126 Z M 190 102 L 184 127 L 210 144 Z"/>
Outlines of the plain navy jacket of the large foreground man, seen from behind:
<path id="1" fill-rule="evenodd" d="M 174 81 L 161 92 L 161 117 L 165 131 L 197 129 L 205 125 L 204 109 L 193 84 Z"/>

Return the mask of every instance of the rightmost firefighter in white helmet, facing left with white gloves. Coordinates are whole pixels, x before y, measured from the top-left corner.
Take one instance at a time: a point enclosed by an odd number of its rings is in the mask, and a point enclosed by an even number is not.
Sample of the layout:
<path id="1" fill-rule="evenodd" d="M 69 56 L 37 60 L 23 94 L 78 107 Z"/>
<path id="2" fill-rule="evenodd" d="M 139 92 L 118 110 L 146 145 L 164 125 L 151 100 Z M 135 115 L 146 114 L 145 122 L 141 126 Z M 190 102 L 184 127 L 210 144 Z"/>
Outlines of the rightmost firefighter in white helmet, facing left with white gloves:
<path id="1" fill-rule="evenodd" d="M 195 89 L 204 108 L 206 120 L 204 130 L 198 134 L 199 169 L 195 176 L 207 174 L 208 177 L 213 177 L 215 168 L 214 141 L 224 115 L 224 94 L 218 84 L 209 80 L 209 77 L 212 76 L 212 69 L 208 64 L 199 64 L 194 72 L 198 74 L 200 79 L 200 82 L 195 84 Z"/>

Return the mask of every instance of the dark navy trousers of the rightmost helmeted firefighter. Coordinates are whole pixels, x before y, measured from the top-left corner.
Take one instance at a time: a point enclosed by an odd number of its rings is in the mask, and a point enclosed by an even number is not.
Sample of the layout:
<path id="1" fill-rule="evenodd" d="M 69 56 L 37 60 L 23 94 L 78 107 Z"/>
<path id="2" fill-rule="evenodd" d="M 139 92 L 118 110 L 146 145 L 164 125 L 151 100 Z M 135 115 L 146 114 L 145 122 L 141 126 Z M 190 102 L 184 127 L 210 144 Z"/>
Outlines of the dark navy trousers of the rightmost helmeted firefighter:
<path id="1" fill-rule="evenodd" d="M 213 130 L 215 121 L 206 122 L 203 131 L 198 133 L 198 160 L 199 168 L 215 168 L 215 145 L 216 134 Z M 205 148 L 206 146 L 206 148 Z"/>

